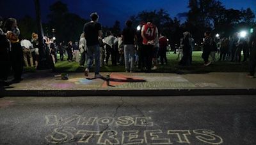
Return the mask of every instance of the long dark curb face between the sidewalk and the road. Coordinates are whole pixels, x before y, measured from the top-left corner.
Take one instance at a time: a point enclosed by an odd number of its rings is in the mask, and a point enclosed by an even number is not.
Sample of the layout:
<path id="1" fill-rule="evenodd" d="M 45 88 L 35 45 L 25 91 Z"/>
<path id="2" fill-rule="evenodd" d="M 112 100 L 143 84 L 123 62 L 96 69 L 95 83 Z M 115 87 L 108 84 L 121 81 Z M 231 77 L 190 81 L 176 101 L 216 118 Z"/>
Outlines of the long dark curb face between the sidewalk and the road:
<path id="1" fill-rule="evenodd" d="M 256 88 L 164 90 L 0 90 L 1 97 L 256 95 Z"/>

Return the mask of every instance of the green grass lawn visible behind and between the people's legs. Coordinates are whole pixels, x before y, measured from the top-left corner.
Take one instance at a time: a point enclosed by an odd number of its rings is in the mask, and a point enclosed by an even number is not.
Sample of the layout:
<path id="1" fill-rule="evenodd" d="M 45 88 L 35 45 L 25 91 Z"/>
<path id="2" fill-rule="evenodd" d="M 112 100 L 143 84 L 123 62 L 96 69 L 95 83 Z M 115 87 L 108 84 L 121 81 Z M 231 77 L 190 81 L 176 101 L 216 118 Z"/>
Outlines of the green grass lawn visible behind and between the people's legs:
<path id="1" fill-rule="evenodd" d="M 189 67 L 179 66 L 177 54 L 168 54 L 168 65 L 158 66 L 154 72 L 171 72 L 171 73 L 207 73 L 207 72 L 247 72 L 248 62 L 214 62 L 210 66 L 204 67 L 204 61 L 201 58 L 202 52 L 193 52 L 192 65 Z M 58 58 L 60 59 L 60 58 Z M 210 57 L 211 59 L 211 57 Z M 242 58 L 243 60 L 243 58 Z M 111 63 L 111 61 L 109 61 Z M 68 62 L 67 57 L 65 61 L 55 64 L 57 72 L 83 72 L 84 67 L 80 67 L 77 62 Z M 33 72 L 33 68 L 26 67 L 26 71 Z M 93 70 L 91 71 L 93 72 Z M 100 72 L 125 72 L 124 66 L 104 66 L 100 68 Z"/>

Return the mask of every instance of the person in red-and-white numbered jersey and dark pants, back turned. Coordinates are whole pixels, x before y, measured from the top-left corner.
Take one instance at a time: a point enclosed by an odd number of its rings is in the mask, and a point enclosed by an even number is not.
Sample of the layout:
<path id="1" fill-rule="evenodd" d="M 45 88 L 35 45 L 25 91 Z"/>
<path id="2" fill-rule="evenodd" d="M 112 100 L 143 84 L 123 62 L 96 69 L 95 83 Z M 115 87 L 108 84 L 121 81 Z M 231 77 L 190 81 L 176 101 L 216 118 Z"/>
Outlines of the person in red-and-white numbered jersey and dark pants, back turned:
<path id="1" fill-rule="evenodd" d="M 141 36 L 143 38 L 142 61 L 145 60 L 147 72 L 151 71 L 154 39 L 156 39 L 157 34 L 158 29 L 156 25 L 152 24 L 152 20 L 148 20 L 147 24 L 143 25 L 141 29 Z"/>

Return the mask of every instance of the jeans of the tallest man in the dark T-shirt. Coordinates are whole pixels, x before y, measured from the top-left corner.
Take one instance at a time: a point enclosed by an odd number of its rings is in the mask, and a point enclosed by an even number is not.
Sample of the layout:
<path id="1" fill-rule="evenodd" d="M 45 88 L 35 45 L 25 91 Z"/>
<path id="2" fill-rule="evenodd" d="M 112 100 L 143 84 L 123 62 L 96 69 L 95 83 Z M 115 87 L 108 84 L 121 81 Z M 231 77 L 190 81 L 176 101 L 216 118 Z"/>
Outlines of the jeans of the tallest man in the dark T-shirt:
<path id="1" fill-rule="evenodd" d="M 99 74 L 100 72 L 100 46 L 99 45 L 93 45 L 93 46 L 87 46 L 87 68 L 90 70 L 92 68 L 93 63 L 93 55 L 95 57 L 95 74 Z"/>

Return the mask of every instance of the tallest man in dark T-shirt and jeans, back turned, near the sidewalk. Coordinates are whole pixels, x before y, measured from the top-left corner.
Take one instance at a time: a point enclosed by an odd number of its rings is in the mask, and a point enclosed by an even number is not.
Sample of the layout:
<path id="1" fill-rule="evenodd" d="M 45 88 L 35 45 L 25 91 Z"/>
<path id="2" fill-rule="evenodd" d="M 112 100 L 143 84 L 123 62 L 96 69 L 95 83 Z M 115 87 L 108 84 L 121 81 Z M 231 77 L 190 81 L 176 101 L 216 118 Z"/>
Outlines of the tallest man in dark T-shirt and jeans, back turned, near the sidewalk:
<path id="1" fill-rule="evenodd" d="M 84 24 L 84 36 L 86 39 L 87 51 L 88 51 L 88 61 L 87 67 L 84 70 L 84 76 L 89 75 L 89 70 L 92 68 L 93 55 L 95 57 L 95 78 L 102 78 L 99 74 L 100 71 L 100 46 L 99 46 L 99 36 L 102 36 L 102 28 L 99 24 L 99 15 L 97 13 L 92 13 L 90 15 L 91 22 Z"/>

